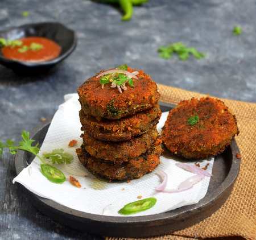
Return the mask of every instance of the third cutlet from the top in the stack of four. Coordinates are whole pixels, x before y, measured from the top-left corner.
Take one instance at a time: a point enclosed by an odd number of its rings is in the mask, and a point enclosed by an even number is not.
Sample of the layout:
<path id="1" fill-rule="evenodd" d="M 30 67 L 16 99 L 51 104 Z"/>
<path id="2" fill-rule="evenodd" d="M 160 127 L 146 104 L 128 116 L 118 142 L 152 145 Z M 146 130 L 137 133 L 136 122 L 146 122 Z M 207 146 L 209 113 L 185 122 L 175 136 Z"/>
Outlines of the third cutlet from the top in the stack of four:
<path id="1" fill-rule="evenodd" d="M 158 138 L 156 127 L 148 133 L 123 142 L 106 142 L 92 138 L 87 133 L 81 135 L 84 148 L 91 156 L 112 162 L 127 162 L 144 154 Z"/>

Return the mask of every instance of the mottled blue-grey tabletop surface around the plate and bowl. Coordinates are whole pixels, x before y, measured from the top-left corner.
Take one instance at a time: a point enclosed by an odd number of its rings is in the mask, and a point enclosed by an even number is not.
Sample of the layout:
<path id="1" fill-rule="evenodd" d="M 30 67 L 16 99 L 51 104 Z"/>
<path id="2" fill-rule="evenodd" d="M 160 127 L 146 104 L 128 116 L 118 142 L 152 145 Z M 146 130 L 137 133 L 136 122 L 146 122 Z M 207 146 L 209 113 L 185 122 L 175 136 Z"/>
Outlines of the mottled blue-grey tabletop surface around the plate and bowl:
<path id="1" fill-rule="evenodd" d="M 214 96 L 256 102 L 255 0 L 150 0 L 130 22 L 110 5 L 86 0 L 1 0 L 0 30 L 59 21 L 79 36 L 76 51 L 56 69 L 20 77 L 0 66 L 0 139 L 18 140 L 40 118 L 50 119 L 63 95 L 104 68 L 127 63 L 156 82 Z M 22 11 L 29 11 L 27 18 Z M 240 24 L 241 36 L 233 36 Z M 202 60 L 164 60 L 157 48 L 181 41 L 207 53 Z M 0 160 L 0 239 L 93 239 L 56 224 L 31 206 L 11 183 L 13 156 Z M 97 237 L 97 239 L 100 237 Z"/>

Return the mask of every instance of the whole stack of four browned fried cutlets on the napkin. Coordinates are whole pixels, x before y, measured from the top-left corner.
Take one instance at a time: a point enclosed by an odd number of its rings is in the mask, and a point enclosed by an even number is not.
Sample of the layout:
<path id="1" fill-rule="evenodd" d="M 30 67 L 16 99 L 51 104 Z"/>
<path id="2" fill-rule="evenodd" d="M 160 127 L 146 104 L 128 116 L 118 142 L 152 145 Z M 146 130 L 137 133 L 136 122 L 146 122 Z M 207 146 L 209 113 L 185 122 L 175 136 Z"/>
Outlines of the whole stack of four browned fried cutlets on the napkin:
<path id="1" fill-rule="evenodd" d="M 105 179 L 137 179 L 159 164 L 160 95 L 150 76 L 138 71 L 137 77 L 122 93 L 110 84 L 102 88 L 98 75 L 78 89 L 84 133 L 77 155 L 90 172 Z"/>

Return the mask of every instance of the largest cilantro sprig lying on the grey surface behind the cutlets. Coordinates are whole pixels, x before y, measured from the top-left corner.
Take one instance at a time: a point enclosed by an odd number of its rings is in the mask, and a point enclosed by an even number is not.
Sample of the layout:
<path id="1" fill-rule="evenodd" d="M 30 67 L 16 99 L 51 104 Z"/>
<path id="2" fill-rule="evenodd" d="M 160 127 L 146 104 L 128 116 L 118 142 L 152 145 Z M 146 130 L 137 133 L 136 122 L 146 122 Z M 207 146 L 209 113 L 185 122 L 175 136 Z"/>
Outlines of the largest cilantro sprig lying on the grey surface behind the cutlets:
<path id="1" fill-rule="evenodd" d="M 204 53 L 196 50 L 196 48 L 189 48 L 181 42 L 172 43 L 167 46 L 158 48 L 159 56 L 163 59 L 171 59 L 174 53 L 179 56 L 180 60 L 187 60 L 189 55 L 193 55 L 196 59 L 204 57 Z"/>

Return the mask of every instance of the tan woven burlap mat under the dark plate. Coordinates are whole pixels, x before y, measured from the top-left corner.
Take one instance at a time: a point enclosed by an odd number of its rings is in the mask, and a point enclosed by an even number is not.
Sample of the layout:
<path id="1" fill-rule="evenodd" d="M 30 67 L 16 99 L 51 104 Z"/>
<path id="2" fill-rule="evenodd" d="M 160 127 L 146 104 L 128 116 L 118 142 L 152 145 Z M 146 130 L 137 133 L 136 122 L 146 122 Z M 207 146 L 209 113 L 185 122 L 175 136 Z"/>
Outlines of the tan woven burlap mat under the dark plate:
<path id="1" fill-rule="evenodd" d="M 160 84 L 158 89 L 161 94 L 160 101 L 171 104 L 177 104 L 181 100 L 192 97 L 205 96 Z M 217 212 L 199 224 L 175 231 L 171 235 L 151 239 L 188 240 L 226 236 L 256 239 L 256 104 L 233 100 L 222 101 L 236 114 L 240 130 L 236 140 L 241 151 L 242 162 L 240 174 L 231 195 Z M 108 239 L 116 240 L 117 238 Z"/>

